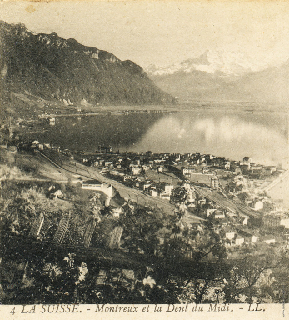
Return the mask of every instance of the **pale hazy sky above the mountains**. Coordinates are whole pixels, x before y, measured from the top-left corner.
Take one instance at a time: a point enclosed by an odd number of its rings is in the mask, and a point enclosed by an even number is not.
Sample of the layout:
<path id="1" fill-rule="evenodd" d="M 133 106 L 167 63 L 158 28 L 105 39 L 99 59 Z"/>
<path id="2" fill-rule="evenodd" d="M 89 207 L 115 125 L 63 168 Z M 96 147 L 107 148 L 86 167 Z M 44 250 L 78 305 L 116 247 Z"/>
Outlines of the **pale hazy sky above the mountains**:
<path id="1" fill-rule="evenodd" d="M 130 59 L 142 67 L 242 52 L 275 64 L 289 58 L 289 1 L 4 0 L 0 19 Z"/>

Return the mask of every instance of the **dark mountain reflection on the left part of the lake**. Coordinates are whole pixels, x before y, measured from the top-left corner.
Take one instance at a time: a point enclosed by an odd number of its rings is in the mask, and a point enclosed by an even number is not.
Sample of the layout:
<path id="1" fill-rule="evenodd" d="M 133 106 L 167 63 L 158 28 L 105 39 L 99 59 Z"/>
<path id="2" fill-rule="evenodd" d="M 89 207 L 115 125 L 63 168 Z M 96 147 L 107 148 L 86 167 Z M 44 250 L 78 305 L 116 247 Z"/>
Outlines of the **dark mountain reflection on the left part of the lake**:
<path id="1" fill-rule="evenodd" d="M 139 142 L 162 117 L 161 113 L 56 117 L 55 125 L 38 137 L 61 148 L 94 152 L 99 145 L 111 145 L 121 151 Z"/>

